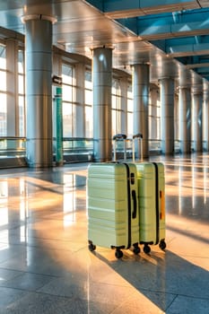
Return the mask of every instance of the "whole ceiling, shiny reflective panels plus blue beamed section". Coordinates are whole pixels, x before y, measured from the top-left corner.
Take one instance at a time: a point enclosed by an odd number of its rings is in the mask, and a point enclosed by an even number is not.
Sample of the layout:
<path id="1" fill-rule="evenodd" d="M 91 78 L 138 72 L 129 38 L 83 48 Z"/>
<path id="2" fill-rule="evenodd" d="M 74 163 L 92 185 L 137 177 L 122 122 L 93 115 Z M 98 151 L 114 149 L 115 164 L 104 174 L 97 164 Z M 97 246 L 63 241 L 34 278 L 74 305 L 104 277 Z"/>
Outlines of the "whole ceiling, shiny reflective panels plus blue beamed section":
<path id="1" fill-rule="evenodd" d="M 111 47 L 115 68 L 149 63 L 152 83 L 207 88 L 209 0 L 0 0 L 0 27 L 24 34 L 28 14 L 55 16 L 53 44 L 70 53 Z"/>

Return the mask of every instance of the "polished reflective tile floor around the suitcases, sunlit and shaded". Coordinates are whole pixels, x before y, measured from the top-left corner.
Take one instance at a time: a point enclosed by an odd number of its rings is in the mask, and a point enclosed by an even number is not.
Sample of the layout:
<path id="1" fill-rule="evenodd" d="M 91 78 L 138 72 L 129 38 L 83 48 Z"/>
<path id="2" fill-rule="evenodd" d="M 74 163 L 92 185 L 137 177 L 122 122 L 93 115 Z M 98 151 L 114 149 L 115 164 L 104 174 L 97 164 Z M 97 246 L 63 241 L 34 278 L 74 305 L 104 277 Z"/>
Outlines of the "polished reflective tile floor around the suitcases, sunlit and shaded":
<path id="1" fill-rule="evenodd" d="M 208 314 L 209 155 L 165 164 L 167 249 L 87 244 L 86 170 L 0 170 L 0 313 Z"/>

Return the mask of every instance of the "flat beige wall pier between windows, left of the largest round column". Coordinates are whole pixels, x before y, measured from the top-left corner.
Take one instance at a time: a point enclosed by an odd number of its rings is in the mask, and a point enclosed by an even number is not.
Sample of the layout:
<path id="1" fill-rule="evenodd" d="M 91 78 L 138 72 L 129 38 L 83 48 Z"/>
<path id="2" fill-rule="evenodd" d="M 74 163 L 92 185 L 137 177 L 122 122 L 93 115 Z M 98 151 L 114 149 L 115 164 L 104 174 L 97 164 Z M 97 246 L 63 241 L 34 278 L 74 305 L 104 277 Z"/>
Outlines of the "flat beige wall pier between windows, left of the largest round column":
<path id="1" fill-rule="evenodd" d="M 18 40 L 6 39 L 7 136 L 19 136 Z"/>

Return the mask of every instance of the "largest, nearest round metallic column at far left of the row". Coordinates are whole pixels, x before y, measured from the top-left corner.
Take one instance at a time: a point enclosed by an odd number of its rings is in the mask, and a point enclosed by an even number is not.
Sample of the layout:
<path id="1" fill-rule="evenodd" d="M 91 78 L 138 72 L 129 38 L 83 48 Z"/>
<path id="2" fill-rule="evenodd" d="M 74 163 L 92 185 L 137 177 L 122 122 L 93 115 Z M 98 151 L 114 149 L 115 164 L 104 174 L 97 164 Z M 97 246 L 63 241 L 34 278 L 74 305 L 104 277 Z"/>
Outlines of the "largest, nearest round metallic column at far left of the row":
<path id="1" fill-rule="evenodd" d="M 42 14 L 23 18 L 26 31 L 26 136 L 30 167 L 51 167 L 52 22 Z"/>

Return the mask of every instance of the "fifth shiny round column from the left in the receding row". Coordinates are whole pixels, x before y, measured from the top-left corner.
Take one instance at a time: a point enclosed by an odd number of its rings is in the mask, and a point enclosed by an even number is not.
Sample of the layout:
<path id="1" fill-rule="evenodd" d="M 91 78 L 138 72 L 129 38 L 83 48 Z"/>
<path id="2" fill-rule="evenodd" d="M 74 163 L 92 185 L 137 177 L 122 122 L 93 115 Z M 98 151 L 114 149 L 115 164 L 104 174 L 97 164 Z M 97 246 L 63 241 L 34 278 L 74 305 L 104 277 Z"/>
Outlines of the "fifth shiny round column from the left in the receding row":
<path id="1" fill-rule="evenodd" d="M 180 153 L 191 152 L 191 91 L 179 87 L 179 141 Z"/>

